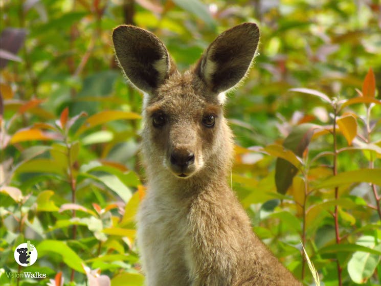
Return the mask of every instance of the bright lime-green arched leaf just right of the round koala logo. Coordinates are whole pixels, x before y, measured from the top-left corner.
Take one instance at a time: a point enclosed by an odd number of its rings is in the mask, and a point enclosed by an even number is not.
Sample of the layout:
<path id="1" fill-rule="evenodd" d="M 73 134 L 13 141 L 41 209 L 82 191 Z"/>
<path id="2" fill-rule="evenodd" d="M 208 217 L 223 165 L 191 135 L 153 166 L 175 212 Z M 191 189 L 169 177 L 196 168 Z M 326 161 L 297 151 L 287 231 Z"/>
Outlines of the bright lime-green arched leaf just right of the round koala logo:
<path id="1" fill-rule="evenodd" d="M 63 262 L 70 268 L 85 273 L 82 268 L 83 260 L 75 253 L 69 246 L 63 241 L 59 240 L 43 240 L 38 246 L 36 246 L 39 256 L 47 255 L 49 253 L 58 253 L 62 256 Z"/>

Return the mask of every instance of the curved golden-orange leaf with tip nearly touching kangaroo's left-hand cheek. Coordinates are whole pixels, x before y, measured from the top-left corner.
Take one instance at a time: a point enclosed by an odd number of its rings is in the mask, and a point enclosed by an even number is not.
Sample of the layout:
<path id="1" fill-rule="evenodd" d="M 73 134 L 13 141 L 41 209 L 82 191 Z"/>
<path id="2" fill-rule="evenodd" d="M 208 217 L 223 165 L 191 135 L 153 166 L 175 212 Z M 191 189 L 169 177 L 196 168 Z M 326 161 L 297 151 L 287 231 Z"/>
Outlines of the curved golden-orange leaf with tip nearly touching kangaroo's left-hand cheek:
<path id="1" fill-rule="evenodd" d="M 89 128 L 94 126 L 113 121 L 118 119 L 140 119 L 141 116 L 137 113 L 133 112 L 125 112 L 125 111 L 102 111 L 100 113 L 94 114 L 86 119 L 83 125 L 78 129 L 77 135 L 82 134 Z"/>

